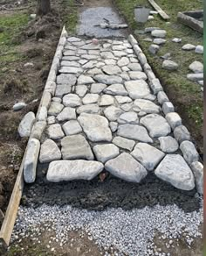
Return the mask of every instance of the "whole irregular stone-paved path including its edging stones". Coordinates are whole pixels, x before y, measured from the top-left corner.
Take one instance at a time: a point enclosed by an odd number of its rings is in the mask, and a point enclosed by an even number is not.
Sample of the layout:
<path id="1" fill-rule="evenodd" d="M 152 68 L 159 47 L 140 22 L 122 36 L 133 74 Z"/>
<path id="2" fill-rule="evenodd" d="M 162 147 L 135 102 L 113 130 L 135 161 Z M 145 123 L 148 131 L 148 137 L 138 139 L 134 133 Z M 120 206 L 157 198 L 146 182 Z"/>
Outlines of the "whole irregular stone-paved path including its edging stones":
<path id="1" fill-rule="evenodd" d="M 31 132 L 37 148 L 31 158 L 50 163 L 47 180 L 91 180 L 105 170 L 133 182 L 154 172 L 184 190 L 202 184 L 189 132 L 134 37 L 69 37 L 63 45 L 56 82 L 46 86 L 48 111 L 43 103 L 36 136 Z M 28 169 L 35 172 L 30 161 L 24 179 L 34 181 Z"/>

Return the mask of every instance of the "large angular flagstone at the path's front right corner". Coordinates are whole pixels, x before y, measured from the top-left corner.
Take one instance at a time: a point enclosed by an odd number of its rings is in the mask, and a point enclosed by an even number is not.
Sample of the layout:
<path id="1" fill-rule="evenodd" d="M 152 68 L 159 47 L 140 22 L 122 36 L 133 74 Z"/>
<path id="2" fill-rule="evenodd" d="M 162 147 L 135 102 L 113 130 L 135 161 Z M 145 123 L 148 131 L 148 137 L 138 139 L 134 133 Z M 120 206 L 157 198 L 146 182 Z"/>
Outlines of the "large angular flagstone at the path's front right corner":
<path id="1" fill-rule="evenodd" d="M 178 170 L 178 172 L 177 172 Z M 194 175 L 186 161 L 179 154 L 168 154 L 155 169 L 154 174 L 175 188 L 192 190 L 195 188 Z"/>

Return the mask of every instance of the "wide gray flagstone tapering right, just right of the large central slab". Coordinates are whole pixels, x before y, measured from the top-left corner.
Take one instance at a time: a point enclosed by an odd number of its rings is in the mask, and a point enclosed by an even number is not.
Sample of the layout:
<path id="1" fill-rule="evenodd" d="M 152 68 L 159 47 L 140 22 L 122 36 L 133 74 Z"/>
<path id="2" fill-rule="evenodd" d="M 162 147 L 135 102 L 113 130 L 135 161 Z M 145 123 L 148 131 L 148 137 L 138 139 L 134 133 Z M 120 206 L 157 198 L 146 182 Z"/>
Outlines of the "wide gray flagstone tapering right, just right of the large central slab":
<path id="1" fill-rule="evenodd" d="M 120 124 L 117 135 L 127 139 L 153 143 L 153 139 L 148 136 L 147 130 L 138 124 Z"/>

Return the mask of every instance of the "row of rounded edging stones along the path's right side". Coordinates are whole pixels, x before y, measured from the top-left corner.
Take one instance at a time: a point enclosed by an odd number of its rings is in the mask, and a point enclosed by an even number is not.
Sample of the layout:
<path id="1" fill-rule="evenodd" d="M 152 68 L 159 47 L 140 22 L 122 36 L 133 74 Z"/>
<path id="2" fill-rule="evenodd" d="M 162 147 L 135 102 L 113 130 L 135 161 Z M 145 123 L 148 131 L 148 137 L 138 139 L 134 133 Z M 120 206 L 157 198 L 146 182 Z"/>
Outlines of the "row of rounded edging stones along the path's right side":
<path id="1" fill-rule="evenodd" d="M 169 102 L 168 96 L 164 92 L 161 86 L 160 80 L 156 78 L 156 76 L 154 75 L 154 72 L 151 66 L 148 64 L 147 57 L 142 52 L 141 47 L 139 46 L 137 40 L 134 39 L 134 36 L 130 34 L 128 36 L 128 41 L 133 46 L 134 53 L 137 55 L 137 58 L 140 61 L 144 72 L 146 73 L 146 75 L 148 75 L 149 86 L 152 89 L 154 95 L 157 96 L 158 103 L 162 105 L 162 111 L 164 112 L 166 119 L 174 132 L 174 135 L 176 137 L 175 139 L 177 139 L 178 143 L 180 144 L 183 141 L 190 140 L 188 136 L 189 134 L 188 129 L 182 125 L 181 117 L 175 112 L 173 103 Z M 168 115 L 166 113 L 169 113 L 170 117 L 167 118 Z M 175 131 L 174 131 L 175 128 L 178 129 L 178 127 L 180 126 L 182 129 L 182 132 L 185 132 L 184 139 L 177 138 L 177 134 L 175 134 Z M 186 148 L 186 146 L 189 146 L 189 147 Z M 180 149 L 182 151 L 183 158 L 189 164 L 189 158 L 190 158 L 189 154 L 192 154 L 191 152 L 189 152 L 189 150 L 191 151 L 193 149 L 196 150 L 196 146 L 191 141 L 189 141 L 189 145 L 185 145 L 185 146 L 181 145 Z M 189 167 L 191 167 L 193 174 L 195 176 L 197 192 L 203 195 L 203 164 L 200 161 L 190 160 Z"/>

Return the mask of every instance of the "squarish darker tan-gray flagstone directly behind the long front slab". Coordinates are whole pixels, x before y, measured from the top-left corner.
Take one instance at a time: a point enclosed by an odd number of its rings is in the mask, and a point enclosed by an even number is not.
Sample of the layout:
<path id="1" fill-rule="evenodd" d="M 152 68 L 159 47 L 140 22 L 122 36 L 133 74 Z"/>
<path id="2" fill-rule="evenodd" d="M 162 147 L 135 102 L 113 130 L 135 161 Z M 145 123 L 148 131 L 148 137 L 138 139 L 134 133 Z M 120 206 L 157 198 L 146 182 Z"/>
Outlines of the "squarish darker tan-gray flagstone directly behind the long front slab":
<path id="1" fill-rule="evenodd" d="M 78 134 L 61 140 L 61 153 L 64 160 L 93 160 L 93 151 L 85 137 Z"/>

